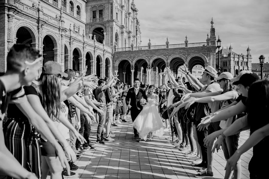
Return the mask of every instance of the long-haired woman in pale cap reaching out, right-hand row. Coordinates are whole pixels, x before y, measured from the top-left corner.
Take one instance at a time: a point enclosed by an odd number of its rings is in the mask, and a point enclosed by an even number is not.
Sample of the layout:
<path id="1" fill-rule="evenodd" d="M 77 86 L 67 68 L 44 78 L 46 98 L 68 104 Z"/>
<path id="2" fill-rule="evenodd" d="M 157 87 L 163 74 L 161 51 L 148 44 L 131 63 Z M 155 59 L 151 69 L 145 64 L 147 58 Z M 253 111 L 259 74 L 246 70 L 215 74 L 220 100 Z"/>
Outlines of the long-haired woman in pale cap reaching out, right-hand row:
<path id="1" fill-rule="evenodd" d="M 208 95 L 207 97 L 195 98 L 194 100 L 189 102 L 189 104 L 187 104 L 185 108 L 188 109 L 190 104 L 193 104 L 194 102 L 210 103 L 210 102 L 219 101 L 220 102 L 219 106 L 221 108 L 226 107 L 227 105 L 231 104 L 239 96 L 238 92 L 235 90 L 235 86 L 232 84 L 232 81 L 231 81 L 232 78 L 233 78 L 233 75 L 230 72 L 221 73 L 221 75 L 219 75 L 218 77 L 215 78 L 215 80 L 218 81 L 221 89 L 223 90 L 221 92 L 221 94 L 216 95 L 219 92 L 213 92 L 213 93 L 209 92 L 209 93 L 207 93 L 207 95 Z M 210 96 L 210 94 L 213 94 L 215 96 Z M 229 127 L 235 120 L 236 120 L 236 116 L 233 116 L 231 118 L 228 118 L 226 120 L 222 120 L 222 121 L 218 122 L 218 124 L 219 124 L 221 129 L 225 129 L 225 128 Z M 198 130 L 203 130 L 203 129 L 199 128 Z M 230 136 L 230 137 L 226 138 L 225 140 L 223 140 L 222 149 L 223 149 L 224 157 L 225 157 L 226 161 L 236 151 L 236 149 L 238 147 L 238 141 L 239 141 L 239 133 L 237 133 L 233 136 Z M 238 163 L 237 166 L 238 166 L 238 168 L 237 168 L 237 171 L 234 171 L 234 175 L 237 176 L 237 178 L 240 178 L 241 177 L 241 164 Z M 211 175 L 213 175 L 212 169 L 207 168 L 207 170 L 205 170 L 204 172 L 197 174 L 197 175 L 198 175 L 198 177 L 211 176 Z M 226 173 L 226 175 L 230 176 L 231 174 Z"/>

